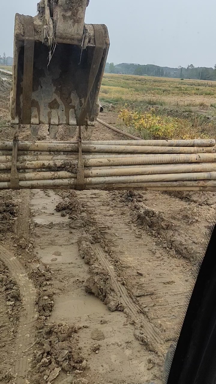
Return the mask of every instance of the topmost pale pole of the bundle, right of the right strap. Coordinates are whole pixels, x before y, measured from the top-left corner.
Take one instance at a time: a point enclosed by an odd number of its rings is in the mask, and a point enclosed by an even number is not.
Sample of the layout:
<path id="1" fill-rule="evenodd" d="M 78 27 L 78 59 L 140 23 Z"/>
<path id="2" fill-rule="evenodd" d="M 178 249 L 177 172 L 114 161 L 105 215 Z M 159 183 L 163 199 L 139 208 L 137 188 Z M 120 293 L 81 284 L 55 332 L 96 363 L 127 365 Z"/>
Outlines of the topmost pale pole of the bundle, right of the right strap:
<path id="1" fill-rule="evenodd" d="M 148 146 L 148 147 L 214 147 L 214 139 L 193 140 L 106 140 L 83 141 L 83 145 L 123 145 L 123 146 Z"/>

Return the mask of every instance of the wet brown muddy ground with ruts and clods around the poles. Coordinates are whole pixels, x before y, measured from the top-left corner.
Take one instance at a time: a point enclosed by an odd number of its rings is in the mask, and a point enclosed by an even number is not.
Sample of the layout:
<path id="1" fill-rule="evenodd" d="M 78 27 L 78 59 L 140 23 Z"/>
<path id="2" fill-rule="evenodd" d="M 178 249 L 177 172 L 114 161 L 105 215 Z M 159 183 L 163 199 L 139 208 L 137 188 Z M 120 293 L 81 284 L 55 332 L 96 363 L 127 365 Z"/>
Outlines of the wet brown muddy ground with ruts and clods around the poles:
<path id="1" fill-rule="evenodd" d="M 0 382 L 162 383 L 215 210 L 214 193 L 0 192 Z"/>

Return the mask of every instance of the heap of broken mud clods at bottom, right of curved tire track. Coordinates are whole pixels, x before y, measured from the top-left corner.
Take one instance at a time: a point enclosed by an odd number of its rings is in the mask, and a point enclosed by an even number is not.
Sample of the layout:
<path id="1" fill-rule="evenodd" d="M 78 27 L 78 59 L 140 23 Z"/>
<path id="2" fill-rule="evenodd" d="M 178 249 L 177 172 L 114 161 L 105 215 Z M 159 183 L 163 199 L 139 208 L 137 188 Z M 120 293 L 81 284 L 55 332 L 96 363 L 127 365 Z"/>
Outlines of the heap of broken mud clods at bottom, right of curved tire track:
<path id="1" fill-rule="evenodd" d="M 51 324 L 38 332 L 37 351 L 34 354 L 35 374 L 42 374 L 50 382 L 62 369 L 65 373 L 83 371 L 86 361 L 81 355 L 78 329 L 67 324 Z M 55 377 L 56 377 L 55 376 Z"/>

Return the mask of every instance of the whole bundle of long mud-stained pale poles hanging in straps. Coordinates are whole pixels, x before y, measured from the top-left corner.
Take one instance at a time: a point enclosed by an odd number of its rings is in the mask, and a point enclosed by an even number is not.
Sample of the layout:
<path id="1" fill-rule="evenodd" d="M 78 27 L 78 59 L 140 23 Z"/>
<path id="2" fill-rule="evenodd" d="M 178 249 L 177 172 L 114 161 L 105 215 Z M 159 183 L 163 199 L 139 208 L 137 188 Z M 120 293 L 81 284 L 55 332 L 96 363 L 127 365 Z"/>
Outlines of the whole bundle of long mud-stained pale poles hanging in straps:
<path id="1" fill-rule="evenodd" d="M 0 189 L 12 142 L 0 142 Z M 215 140 L 83 141 L 83 189 L 216 190 Z M 19 188 L 77 189 L 78 142 L 18 142 Z"/>

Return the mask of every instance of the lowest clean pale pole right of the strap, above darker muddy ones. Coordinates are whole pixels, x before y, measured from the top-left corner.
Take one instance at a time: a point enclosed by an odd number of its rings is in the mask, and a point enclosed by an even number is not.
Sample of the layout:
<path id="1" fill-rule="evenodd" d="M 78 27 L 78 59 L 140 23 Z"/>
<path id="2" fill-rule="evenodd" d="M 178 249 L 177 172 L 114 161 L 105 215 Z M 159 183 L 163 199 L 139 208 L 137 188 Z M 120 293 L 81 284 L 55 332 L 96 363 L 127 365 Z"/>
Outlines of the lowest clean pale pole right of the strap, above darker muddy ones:
<path id="1" fill-rule="evenodd" d="M 194 172 L 179 174 L 138 175 L 138 176 L 107 176 L 87 177 L 85 184 L 119 184 L 139 183 L 151 181 L 179 181 L 179 180 L 216 180 L 216 172 Z"/>

